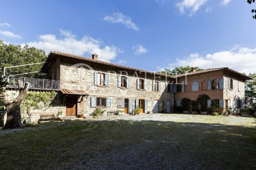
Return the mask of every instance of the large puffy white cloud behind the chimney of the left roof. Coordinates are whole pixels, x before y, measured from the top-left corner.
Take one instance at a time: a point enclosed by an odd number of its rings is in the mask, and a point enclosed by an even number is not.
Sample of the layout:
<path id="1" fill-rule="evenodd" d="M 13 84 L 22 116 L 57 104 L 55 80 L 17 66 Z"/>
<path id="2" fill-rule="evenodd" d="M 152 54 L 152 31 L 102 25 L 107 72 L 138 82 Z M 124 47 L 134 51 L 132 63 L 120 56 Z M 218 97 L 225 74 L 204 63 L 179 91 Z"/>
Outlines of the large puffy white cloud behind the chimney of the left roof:
<path id="1" fill-rule="evenodd" d="M 103 61 L 114 60 L 119 53 L 122 53 L 119 48 L 113 45 L 102 46 L 100 40 L 90 36 L 78 39 L 71 31 L 59 30 L 59 32 L 62 37 L 56 37 L 54 34 L 40 35 L 38 41 L 27 42 L 26 44 L 45 50 L 47 53 L 51 50 L 80 56 L 91 56 L 91 54 L 97 53 L 99 60 Z"/>

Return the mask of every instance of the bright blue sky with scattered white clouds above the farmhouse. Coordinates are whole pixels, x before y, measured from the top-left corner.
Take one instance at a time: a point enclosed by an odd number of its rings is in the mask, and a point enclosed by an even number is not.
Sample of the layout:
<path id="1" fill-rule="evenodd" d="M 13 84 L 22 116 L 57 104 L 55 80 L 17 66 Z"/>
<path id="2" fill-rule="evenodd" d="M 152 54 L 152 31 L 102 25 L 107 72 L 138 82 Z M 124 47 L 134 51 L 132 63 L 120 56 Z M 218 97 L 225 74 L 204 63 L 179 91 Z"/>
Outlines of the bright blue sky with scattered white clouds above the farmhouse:
<path id="1" fill-rule="evenodd" d="M 161 70 L 228 66 L 256 72 L 256 20 L 246 1 L 12 1 L 0 6 L 0 39 Z"/>

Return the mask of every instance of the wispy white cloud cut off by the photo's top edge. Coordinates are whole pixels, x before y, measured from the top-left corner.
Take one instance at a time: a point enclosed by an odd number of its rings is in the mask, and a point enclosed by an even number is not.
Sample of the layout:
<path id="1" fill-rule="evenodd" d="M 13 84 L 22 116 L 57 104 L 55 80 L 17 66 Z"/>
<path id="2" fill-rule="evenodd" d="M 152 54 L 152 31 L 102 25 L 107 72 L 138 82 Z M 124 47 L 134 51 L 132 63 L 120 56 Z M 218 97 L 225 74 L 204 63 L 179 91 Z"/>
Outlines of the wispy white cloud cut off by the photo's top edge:
<path id="1" fill-rule="evenodd" d="M 192 16 L 206 2 L 207 0 L 182 0 L 176 3 L 176 7 L 179 9 L 180 13 L 188 13 L 189 16 Z"/>

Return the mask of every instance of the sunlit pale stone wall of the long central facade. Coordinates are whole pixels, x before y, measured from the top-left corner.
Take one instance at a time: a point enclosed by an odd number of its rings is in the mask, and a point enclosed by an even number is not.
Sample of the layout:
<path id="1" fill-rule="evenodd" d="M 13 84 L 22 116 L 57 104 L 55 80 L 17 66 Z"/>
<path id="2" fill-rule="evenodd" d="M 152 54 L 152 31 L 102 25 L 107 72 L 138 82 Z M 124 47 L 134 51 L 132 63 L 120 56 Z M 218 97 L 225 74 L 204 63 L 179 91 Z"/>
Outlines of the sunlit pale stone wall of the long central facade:
<path id="1" fill-rule="evenodd" d="M 118 87 L 118 75 L 119 71 L 113 68 L 99 67 L 97 65 L 90 65 L 93 70 L 86 68 L 85 66 L 74 67 L 72 64 L 62 63 L 60 65 L 60 85 L 62 89 L 74 89 L 74 90 L 84 90 L 89 93 L 89 96 L 84 97 L 81 103 L 78 103 L 77 112 L 84 110 L 86 115 L 91 114 L 95 107 L 91 107 L 90 99 L 91 97 L 104 97 L 111 99 L 111 107 L 104 108 L 107 111 L 120 110 L 117 108 L 117 99 L 133 99 L 133 107 L 135 107 L 136 99 L 147 100 L 147 111 L 153 111 L 154 100 L 159 101 L 159 111 L 160 109 L 166 110 L 166 101 L 173 102 L 173 94 L 165 92 L 165 84 L 170 81 L 170 78 L 160 77 L 156 78 L 161 83 L 161 91 L 153 91 L 153 80 L 154 75 L 146 76 L 146 89 L 137 89 L 137 75 L 139 78 L 145 78 L 144 73 L 129 71 L 128 75 L 130 77 L 130 87 L 129 88 L 119 88 Z M 97 86 L 94 85 L 94 70 L 101 72 L 109 71 L 109 85 L 108 86 Z"/>

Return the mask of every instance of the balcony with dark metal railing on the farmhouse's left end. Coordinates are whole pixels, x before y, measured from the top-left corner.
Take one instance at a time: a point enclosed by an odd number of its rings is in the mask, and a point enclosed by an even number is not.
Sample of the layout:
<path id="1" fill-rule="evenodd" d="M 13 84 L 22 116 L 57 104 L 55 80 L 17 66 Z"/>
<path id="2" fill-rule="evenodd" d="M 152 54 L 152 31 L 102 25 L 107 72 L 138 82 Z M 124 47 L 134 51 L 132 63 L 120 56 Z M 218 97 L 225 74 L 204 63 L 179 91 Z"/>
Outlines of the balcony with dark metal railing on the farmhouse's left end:
<path id="1" fill-rule="evenodd" d="M 24 85 L 28 82 L 31 90 L 60 90 L 59 81 L 22 77 L 7 77 L 8 84 L 6 88 L 18 88 L 18 80 L 23 81 Z"/>

